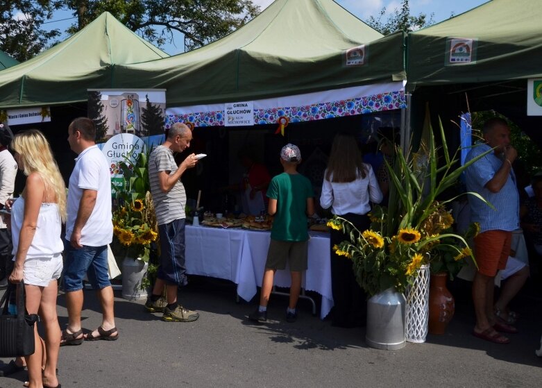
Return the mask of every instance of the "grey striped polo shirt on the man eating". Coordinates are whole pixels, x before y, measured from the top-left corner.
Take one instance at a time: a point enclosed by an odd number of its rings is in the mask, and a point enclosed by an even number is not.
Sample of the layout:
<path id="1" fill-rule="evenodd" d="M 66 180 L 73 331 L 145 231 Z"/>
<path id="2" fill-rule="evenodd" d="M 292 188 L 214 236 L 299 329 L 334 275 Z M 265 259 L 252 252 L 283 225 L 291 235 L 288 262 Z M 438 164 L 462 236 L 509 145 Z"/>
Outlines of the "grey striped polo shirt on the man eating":
<path id="1" fill-rule="evenodd" d="M 149 181 L 158 225 L 185 218 L 186 193 L 183 183 L 178 180 L 169 192 L 160 189 L 158 173 L 167 171 L 169 175 L 177 171 L 173 151 L 166 146 L 158 146 L 149 157 Z"/>

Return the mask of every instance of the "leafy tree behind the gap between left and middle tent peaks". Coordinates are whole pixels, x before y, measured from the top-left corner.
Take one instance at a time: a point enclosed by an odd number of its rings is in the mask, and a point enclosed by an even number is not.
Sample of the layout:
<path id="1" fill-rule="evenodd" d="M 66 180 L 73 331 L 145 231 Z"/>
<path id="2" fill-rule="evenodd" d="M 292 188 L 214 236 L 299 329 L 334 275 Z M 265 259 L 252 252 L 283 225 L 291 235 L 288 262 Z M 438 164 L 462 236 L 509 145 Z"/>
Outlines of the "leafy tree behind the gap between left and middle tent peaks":
<path id="1" fill-rule="evenodd" d="M 108 11 L 130 30 L 161 47 L 173 42 L 173 32 L 185 36 L 185 50 L 217 40 L 260 12 L 251 0 L 65 0 L 74 10 L 76 33 L 102 12 Z"/>

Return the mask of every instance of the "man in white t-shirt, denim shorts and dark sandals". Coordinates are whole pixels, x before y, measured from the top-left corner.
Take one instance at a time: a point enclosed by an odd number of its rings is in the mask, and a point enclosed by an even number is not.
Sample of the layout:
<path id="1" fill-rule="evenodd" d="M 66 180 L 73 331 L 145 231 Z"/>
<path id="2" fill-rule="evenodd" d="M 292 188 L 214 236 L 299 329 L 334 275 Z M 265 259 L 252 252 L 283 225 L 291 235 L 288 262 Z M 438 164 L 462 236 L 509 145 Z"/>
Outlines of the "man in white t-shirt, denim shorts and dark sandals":
<path id="1" fill-rule="evenodd" d="M 61 346 L 119 338 L 108 276 L 108 244 L 113 237 L 111 178 L 108 161 L 96 146 L 95 137 L 91 119 L 79 117 L 69 124 L 69 146 L 78 157 L 68 187 L 63 278 L 68 326 L 62 330 Z M 87 335 L 81 330 L 85 273 L 97 290 L 102 309 L 101 326 Z"/>

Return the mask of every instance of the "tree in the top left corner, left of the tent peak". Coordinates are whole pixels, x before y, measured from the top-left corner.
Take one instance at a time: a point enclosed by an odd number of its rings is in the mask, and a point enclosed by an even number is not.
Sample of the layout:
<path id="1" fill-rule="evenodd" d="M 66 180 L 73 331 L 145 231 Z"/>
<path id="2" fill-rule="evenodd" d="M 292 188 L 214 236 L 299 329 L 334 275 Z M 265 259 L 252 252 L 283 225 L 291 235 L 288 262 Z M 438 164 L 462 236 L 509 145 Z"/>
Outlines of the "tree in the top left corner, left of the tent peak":
<path id="1" fill-rule="evenodd" d="M 0 1 L 0 49 L 19 62 L 36 56 L 60 35 L 58 30 L 42 29 L 57 8 L 57 1 Z"/>

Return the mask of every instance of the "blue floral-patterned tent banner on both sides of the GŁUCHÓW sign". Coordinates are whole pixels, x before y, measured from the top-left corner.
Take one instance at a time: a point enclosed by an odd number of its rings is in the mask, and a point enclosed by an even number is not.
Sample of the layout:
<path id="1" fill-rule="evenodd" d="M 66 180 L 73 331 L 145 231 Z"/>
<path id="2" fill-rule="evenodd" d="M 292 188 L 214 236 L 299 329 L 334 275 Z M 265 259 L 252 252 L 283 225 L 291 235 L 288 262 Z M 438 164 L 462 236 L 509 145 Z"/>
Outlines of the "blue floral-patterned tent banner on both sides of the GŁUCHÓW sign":
<path id="1" fill-rule="evenodd" d="M 284 118 L 296 123 L 407 107 L 404 81 L 346 87 L 252 102 L 254 124 L 279 124 Z M 232 105 L 233 103 L 218 103 L 168 108 L 165 126 L 170 128 L 176 122 L 194 124 L 195 127 L 226 126 L 225 108 Z"/>

